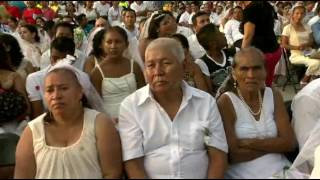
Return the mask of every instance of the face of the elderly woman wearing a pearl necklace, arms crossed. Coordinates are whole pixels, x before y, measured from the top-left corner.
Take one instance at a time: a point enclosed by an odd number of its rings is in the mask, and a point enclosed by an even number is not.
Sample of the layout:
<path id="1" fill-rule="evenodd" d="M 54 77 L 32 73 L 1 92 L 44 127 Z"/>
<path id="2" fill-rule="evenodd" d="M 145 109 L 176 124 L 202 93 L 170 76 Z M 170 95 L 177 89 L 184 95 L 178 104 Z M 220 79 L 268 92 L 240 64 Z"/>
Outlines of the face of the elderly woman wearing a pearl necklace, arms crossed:
<path id="1" fill-rule="evenodd" d="M 233 78 L 240 89 L 257 91 L 261 89 L 266 80 L 264 59 L 256 53 L 246 53 L 232 70 Z"/>

